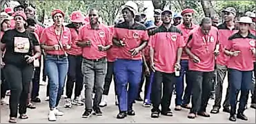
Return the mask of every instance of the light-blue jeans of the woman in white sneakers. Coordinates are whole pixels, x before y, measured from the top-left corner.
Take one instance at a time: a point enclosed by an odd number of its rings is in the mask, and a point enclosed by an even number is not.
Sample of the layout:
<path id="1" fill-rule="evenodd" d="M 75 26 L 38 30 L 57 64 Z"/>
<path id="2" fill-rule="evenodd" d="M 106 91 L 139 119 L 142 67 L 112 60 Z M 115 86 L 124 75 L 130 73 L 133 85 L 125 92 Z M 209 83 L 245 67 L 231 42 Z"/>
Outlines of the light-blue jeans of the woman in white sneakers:
<path id="1" fill-rule="evenodd" d="M 56 108 L 61 99 L 66 75 L 68 73 L 68 57 L 46 55 L 46 72 L 49 79 L 49 106 Z"/>

